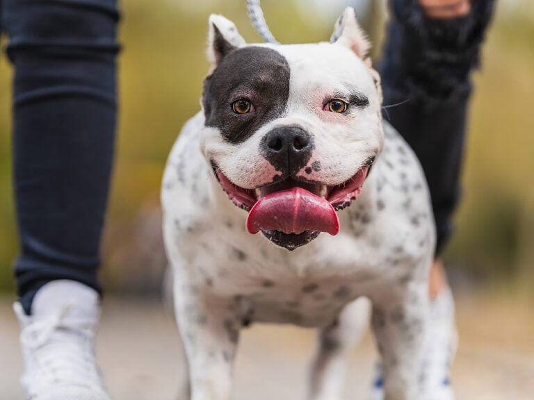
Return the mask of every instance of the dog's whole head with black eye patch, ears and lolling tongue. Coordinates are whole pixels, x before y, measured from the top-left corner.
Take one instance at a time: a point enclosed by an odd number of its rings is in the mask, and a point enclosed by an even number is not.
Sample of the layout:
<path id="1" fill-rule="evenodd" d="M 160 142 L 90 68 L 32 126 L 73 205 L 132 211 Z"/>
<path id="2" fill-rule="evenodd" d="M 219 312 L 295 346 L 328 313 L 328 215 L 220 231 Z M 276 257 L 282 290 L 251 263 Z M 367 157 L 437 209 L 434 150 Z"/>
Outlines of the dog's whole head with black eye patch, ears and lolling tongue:
<path id="1" fill-rule="evenodd" d="M 382 149 L 378 74 L 353 9 L 332 42 L 248 45 L 210 17 L 202 152 L 229 199 L 286 249 L 337 233 Z"/>

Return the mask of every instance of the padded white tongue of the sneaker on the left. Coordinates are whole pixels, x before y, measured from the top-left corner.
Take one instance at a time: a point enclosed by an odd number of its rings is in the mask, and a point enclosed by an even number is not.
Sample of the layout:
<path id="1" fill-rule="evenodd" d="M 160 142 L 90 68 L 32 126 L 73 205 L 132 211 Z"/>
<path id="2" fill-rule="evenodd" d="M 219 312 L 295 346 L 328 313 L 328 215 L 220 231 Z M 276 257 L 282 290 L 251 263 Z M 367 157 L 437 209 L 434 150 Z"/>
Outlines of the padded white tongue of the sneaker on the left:
<path id="1" fill-rule="evenodd" d="M 76 281 L 52 281 L 40 288 L 33 298 L 31 315 L 47 317 L 70 306 L 67 315 L 73 318 L 92 318 L 99 313 L 99 294 Z"/>

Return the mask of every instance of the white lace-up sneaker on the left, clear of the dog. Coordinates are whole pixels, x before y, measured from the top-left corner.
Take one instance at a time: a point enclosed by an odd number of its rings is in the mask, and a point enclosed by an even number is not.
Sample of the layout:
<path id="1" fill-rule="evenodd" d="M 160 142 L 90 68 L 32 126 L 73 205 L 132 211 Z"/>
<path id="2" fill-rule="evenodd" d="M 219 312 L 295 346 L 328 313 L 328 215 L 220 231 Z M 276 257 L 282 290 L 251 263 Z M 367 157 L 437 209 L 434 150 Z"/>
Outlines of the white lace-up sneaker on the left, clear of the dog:
<path id="1" fill-rule="evenodd" d="M 32 315 L 13 305 L 22 328 L 28 400 L 111 400 L 95 361 L 99 296 L 76 281 L 53 281 L 35 294 Z"/>

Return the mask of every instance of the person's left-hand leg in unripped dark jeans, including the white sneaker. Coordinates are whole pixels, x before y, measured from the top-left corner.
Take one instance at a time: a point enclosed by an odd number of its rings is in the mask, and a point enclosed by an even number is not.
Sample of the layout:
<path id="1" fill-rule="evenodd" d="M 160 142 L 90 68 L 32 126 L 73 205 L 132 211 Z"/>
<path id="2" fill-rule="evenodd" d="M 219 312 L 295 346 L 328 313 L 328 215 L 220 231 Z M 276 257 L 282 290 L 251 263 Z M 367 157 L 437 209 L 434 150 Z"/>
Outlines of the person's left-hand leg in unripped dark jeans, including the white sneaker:
<path id="1" fill-rule="evenodd" d="M 115 0 L 3 0 L 1 18 L 15 67 L 22 384 L 35 400 L 109 400 L 92 342 L 115 142 Z"/>

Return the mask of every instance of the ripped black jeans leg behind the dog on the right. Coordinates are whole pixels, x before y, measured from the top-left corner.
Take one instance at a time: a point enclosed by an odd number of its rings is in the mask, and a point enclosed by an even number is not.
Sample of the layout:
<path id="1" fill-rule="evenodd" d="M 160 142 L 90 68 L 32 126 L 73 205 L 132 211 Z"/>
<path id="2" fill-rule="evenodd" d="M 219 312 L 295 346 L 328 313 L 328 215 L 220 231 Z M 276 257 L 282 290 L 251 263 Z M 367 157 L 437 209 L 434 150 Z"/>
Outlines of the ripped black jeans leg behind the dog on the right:
<path id="1" fill-rule="evenodd" d="M 391 0 L 380 63 L 384 116 L 414 149 L 434 210 L 437 256 L 453 230 L 460 199 L 470 72 L 492 17 L 494 0 L 471 2 L 467 17 L 427 19 L 417 0 Z"/>

